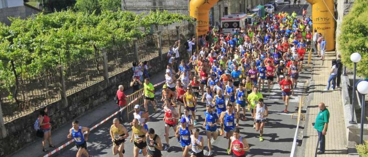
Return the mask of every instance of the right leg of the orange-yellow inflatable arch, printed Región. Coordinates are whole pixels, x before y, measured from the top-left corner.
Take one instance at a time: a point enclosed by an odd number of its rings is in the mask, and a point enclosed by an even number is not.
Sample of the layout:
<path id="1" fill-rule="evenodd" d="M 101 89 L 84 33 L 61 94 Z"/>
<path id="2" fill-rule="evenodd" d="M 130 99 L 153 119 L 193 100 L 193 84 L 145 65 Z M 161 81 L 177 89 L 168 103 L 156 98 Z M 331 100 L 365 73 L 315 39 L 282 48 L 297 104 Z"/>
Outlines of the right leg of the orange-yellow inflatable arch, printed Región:
<path id="1" fill-rule="evenodd" d="M 313 29 L 322 33 L 327 41 L 327 51 L 335 50 L 335 19 L 333 0 L 307 0 L 312 4 Z"/>

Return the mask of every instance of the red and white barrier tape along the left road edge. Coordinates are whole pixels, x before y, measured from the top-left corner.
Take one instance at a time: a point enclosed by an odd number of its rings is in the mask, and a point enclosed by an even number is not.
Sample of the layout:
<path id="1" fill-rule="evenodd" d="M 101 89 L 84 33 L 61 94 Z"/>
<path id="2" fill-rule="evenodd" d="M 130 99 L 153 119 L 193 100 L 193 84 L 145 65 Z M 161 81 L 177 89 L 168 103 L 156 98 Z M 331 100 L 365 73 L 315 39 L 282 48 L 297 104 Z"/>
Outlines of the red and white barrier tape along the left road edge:
<path id="1" fill-rule="evenodd" d="M 161 81 L 155 85 L 153 85 L 153 87 L 157 87 L 160 84 L 165 83 L 166 81 Z M 143 95 L 141 95 L 143 96 Z M 138 96 L 137 98 L 135 98 L 132 102 L 130 102 L 127 106 L 133 104 L 135 101 L 137 101 L 140 98 L 140 96 Z M 123 111 L 125 108 L 127 108 L 127 106 L 124 106 L 123 108 L 121 108 L 120 110 L 114 112 L 112 115 L 110 115 L 109 117 L 106 117 L 104 120 L 100 121 L 100 123 L 94 125 L 90 131 L 92 131 L 93 129 L 99 127 L 100 125 L 102 125 L 103 123 L 105 123 L 107 120 L 111 119 L 112 117 L 114 117 L 116 114 L 118 114 L 119 112 Z M 43 157 L 50 157 L 52 154 L 55 154 L 56 152 L 60 151 L 61 149 L 65 148 L 66 146 L 70 145 L 71 143 L 74 142 L 74 139 L 69 140 L 68 142 L 64 143 L 63 145 L 61 145 L 60 147 L 57 147 L 56 149 L 54 149 L 53 151 L 50 151 L 49 153 L 47 153 L 45 156 Z"/>

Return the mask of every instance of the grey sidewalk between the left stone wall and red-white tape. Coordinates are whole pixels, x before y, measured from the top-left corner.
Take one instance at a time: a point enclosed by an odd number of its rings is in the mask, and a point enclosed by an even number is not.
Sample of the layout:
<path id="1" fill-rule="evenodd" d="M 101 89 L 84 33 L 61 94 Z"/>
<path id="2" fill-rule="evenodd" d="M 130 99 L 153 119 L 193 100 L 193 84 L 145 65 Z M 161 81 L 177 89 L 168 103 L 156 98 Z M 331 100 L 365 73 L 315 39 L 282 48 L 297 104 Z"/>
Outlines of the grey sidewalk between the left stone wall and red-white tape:
<path id="1" fill-rule="evenodd" d="M 155 76 L 151 77 L 152 84 L 159 83 L 164 80 L 164 71 L 161 71 Z M 117 85 L 118 86 L 118 85 Z M 117 90 L 116 86 L 116 90 Z M 128 87 L 125 87 L 128 88 Z M 125 94 L 131 94 L 132 89 L 128 89 L 124 91 Z M 101 121 L 107 116 L 110 116 L 114 112 L 118 110 L 118 107 L 116 106 L 113 98 L 111 98 L 109 101 L 101 104 L 96 109 L 86 112 L 84 115 L 81 115 L 75 119 L 79 120 L 79 123 L 82 126 L 85 127 L 92 127 L 96 124 L 97 121 Z M 71 121 L 68 121 L 63 126 L 59 127 L 57 130 L 52 130 L 52 141 L 53 145 L 56 147 L 61 146 L 62 144 L 66 143 L 68 141 L 67 134 L 69 129 L 71 128 Z M 46 143 L 46 145 L 48 145 Z M 74 146 L 74 143 L 72 144 Z M 67 148 L 66 148 L 67 149 Z M 54 148 L 47 147 L 47 150 L 52 151 Z M 42 139 L 39 138 L 37 140 L 34 140 L 31 143 L 28 143 L 26 146 L 24 146 L 23 149 L 16 151 L 13 154 L 10 154 L 9 157 L 42 157 L 46 155 L 47 153 L 42 151 Z"/>

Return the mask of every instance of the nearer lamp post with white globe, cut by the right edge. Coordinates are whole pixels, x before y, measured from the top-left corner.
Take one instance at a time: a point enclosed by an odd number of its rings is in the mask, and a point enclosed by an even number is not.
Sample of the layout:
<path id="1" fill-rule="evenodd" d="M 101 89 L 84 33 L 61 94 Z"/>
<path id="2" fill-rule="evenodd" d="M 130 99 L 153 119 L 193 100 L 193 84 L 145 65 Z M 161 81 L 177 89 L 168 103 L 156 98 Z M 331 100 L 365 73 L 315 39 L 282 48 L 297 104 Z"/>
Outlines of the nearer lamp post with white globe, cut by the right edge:
<path id="1" fill-rule="evenodd" d="M 364 129 L 364 108 L 365 108 L 365 95 L 368 94 L 368 81 L 361 81 L 357 86 L 358 92 L 362 94 L 362 110 L 360 116 L 360 144 L 363 144 L 363 129 Z"/>

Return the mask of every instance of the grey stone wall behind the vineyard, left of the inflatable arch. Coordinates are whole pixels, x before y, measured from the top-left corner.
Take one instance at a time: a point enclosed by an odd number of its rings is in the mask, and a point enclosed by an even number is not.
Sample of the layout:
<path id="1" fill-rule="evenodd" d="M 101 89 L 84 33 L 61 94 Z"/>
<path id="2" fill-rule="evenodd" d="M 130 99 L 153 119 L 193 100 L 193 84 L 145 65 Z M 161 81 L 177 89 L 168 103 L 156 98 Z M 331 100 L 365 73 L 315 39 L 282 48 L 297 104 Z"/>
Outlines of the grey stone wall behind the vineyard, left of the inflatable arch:
<path id="1" fill-rule="evenodd" d="M 121 9 L 137 13 L 163 9 L 188 15 L 189 0 L 121 0 Z"/>

